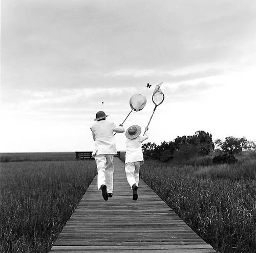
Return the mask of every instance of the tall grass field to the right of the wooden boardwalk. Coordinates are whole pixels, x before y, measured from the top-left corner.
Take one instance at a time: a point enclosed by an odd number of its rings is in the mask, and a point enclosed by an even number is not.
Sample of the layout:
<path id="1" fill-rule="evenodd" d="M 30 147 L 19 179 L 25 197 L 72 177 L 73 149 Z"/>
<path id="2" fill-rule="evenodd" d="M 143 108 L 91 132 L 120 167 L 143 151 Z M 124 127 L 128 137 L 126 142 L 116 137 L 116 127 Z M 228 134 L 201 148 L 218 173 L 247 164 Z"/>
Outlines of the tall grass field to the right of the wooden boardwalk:
<path id="1" fill-rule="evenodd" d="M 256 252 L 256 157 L 234 165 L 145 161 L 141 178 L 220 253 Z"/>

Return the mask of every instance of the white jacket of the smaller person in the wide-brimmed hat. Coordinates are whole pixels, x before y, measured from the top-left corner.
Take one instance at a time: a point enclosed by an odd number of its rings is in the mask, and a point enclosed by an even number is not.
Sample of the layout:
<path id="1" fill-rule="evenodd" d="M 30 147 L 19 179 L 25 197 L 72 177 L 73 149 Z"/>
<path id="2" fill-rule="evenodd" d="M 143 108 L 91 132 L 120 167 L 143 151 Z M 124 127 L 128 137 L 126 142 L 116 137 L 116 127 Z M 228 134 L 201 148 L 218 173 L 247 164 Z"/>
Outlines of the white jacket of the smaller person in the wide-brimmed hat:
<path id="1" fill-rule="evenodd" d="M 142 137 L 138 136 L 135 139 L 126 138 L 125 163 L 143 161 L 141 142 L 146 140 L 147 138 L 148 138 L 147 132 Z"/>

